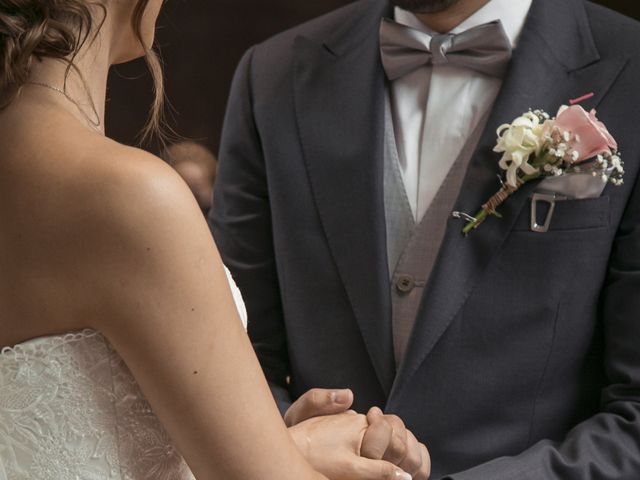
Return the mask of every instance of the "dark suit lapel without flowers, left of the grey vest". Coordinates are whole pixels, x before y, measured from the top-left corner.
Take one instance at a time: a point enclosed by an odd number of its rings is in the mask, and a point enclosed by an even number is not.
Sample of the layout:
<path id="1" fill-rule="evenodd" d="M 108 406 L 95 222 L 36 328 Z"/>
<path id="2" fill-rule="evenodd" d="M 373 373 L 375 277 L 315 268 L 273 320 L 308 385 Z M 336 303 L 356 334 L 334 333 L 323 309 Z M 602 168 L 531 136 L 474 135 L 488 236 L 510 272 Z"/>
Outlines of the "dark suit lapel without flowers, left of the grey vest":
<path id="1" fill-rule="evenodd" d="M 383 197 L 385 1 L 330 38 L 295 41 L 295 107 L 322 225 L 380 383 L 395 374 Z M 366 5 L 365 5 L 366 4 Z"/>

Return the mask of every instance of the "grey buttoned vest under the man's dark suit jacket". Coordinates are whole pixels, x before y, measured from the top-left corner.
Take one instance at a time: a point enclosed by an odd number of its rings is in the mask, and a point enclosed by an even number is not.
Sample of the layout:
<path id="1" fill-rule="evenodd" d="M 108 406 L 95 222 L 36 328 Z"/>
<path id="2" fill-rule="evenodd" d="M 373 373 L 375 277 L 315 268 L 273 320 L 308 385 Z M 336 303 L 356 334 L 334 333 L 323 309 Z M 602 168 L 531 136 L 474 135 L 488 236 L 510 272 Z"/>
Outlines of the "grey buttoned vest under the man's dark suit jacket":
<path id="1" fill-rule="evenodd" d="M 391 103 L 387 96 L 384 196 L 396 367 L 404 359 L 422 294 L 440 251 L 447 221 L 488 116 L 487 113 L 476 126 L 429 209 L 416 225 L 402 181 Z"/>

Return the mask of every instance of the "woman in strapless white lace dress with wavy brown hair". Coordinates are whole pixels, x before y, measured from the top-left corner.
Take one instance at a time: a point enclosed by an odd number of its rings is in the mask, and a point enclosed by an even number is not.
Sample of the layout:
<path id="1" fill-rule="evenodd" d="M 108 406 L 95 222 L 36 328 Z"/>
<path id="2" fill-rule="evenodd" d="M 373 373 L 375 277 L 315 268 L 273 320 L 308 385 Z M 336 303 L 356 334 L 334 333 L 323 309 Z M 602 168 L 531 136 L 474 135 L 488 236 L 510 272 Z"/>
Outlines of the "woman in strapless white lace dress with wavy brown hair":
<path id="1" fill-rule="evenodd" d="M 362 415 L 286 429 L 193 196 L 104 136 L 142 55 L 160 125 L 161 3 L 0 0 L 0 480 L 410 479 Z"/>

